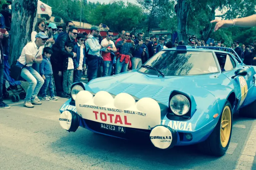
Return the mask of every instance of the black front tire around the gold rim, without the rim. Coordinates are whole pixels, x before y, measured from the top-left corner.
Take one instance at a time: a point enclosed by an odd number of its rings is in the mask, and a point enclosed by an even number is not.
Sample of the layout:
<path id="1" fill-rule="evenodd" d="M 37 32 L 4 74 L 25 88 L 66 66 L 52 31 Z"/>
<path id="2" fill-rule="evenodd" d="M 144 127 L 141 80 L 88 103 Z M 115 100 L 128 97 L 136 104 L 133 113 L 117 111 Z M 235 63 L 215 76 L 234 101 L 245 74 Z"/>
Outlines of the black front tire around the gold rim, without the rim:
<path id="1" fill-rule="evenodd" d="M 222 118 L 222 114 L 224 111 L 224 108 L 228 106 L 231 112 L 231 130 L 230 130 L 230 136 L 229 136 L 229 140 L 228 143 L 226 145 L 226 147 L 223 147 L 221 145 L 221 139 L 220 139 L 220 128 L 221 128 L 221 118 Z M 209 155 L 214 155 L 214 156 L 223 156 L 229 146 L 230 143 L 230 139 L 231 139 L 231 134 L 232 134 L 232 124 L 233 124 L 233 115 L 232 115 L 232 106 L 230 104 L 230 102 L 227 100 L 223 109 L 222 109 L 222 113 L 219 117 L 219 121 L 217 123 L 217 125 L 215 126 L 214 130 L 212 131 L 212 133 L 210 134 L 210 136 L 204 141 L 198 144 L 198 148 L 200 151 L 209 154 Z"/>

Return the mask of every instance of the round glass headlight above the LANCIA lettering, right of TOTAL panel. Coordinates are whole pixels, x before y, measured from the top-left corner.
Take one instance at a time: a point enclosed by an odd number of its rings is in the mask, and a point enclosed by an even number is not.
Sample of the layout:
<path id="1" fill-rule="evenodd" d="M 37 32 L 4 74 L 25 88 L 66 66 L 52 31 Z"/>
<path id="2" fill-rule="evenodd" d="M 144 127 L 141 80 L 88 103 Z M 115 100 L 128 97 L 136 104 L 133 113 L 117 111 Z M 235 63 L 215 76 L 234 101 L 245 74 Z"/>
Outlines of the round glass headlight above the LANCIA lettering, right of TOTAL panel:
<path id="1" fill-rule="evenodd" d="M 171 98 L 170 108 L 174 114 L 183 116 L 189 111 L 190 103 L 187 97 L 177 94 Z"/>

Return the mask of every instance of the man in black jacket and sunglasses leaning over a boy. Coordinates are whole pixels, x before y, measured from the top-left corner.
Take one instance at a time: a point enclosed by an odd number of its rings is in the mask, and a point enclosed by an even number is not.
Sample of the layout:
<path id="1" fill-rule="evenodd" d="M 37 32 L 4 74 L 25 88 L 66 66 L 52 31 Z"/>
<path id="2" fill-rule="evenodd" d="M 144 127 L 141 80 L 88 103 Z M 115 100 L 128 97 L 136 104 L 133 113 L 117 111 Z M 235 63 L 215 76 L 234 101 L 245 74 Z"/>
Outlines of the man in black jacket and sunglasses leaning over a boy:
<path id="1" fill-rule="evenodd" d="M 72 41 L 77 37 L 77 28 L 71 27 L 68 31 L 68 33 L 64 33 L 61 35 L 61 37 L 57 38 L 57 41 L 52 46 L 53 54 L 51 56 L 51 64 L 52 64 L 52 71 L 53 71 L 53 77 L 54 77 L 54 83 L 56 87 L 57 96 L 65 97 L 63 95 L 63 76 L 62 76 L 62 70 L 63 70 L 63 57 L 76 57 L 76 53 L 70 52 L 68 53 L 65 49 L 65 43 L 67 41 Z"/>

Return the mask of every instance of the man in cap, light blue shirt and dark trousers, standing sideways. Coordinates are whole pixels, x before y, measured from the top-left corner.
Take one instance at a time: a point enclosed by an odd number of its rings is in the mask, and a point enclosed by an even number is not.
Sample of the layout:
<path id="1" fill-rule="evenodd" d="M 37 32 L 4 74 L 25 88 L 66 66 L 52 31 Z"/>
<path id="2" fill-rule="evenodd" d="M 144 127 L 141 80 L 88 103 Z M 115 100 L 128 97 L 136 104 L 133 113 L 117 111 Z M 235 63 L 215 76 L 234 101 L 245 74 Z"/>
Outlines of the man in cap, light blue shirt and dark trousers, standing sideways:
<path id="1" fill-rule="evenodd" d="M 102 56 L 100 55 L 100 51 L 106 51 L 107 47 L 110 44 L 99 44 L 98 37 L 100 34 L 100 28 L 98 26 L 91 27 L 91 34 L 88 36 L 88 39 L 85 42 L 85 48 L 88 60 L 88 82 L 92 79 L 97 78 L 97 72 L 100 65 L 100 61 L 102 60 Z"/>

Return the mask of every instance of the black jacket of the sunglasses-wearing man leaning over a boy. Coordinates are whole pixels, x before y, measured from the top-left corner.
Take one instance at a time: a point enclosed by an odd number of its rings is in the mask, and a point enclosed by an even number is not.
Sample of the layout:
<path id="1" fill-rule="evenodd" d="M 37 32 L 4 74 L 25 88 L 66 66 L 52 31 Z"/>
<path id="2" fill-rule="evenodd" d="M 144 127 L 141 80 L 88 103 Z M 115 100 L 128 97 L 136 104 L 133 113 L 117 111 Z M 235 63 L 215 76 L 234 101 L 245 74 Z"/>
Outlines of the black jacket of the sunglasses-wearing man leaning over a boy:
<path id="1" fill-rule="evenodd" d="M 68 53 L 65 49 L 65 43 L 71 41 L 69 35 L 63 34 L 58 37 L 55 44 L 52 46 L 53 54 L 51 56 L 51 62 L 58 67 L 59 71 L 67 70 L 68 57 L 74 57 L 74 53 Z M 65 63 L 65 65 L 63 65 Z M 53 66 L 54 67 L 54 66 Z"/>

